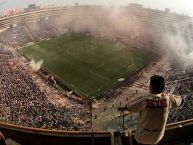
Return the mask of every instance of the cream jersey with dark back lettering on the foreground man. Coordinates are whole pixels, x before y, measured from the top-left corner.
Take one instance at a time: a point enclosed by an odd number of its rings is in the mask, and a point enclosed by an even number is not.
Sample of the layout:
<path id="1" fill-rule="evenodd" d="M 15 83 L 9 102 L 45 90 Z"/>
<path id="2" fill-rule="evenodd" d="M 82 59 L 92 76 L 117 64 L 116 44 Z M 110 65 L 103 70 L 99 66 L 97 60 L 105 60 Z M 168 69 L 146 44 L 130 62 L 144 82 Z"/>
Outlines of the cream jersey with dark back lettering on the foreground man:
<path id="1" fill-rule="evenodd" d="M 139 112 L 135 139 L 142 144 L 157 144 L 164 136 L 170 108 L 180 106 L 182 98 L 171 94 L 149 94 L 128 102 L 128 111 Z"/>

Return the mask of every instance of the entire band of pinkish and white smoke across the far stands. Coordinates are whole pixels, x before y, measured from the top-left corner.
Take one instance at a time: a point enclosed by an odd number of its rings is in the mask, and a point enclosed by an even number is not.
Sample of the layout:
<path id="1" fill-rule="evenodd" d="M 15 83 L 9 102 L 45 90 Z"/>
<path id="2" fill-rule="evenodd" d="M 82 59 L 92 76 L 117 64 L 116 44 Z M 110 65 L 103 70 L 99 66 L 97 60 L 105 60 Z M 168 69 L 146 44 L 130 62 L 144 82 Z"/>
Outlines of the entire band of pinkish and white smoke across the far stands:
<path id="1" fill-rule="evenodd" d="M 73 33 L 89 33 L 102 39 L 121 41 L 133 48 L 161 52 L 177 58 L 185 67 L 193 65 L 193 34 L 188 32 L 191 18 L 182 22 L 176 20 L 174 14 L 162 12 L 162 15 L 158 18 L 129 7 L 72 7 L 52 22 L 58 35 L 70 28 Z M 168 19 L 171 22 L 168 23 Z M 155 22 L 157 24 L 153 25 Z M 182 25 L 187 28 L 182 28 Z"/>

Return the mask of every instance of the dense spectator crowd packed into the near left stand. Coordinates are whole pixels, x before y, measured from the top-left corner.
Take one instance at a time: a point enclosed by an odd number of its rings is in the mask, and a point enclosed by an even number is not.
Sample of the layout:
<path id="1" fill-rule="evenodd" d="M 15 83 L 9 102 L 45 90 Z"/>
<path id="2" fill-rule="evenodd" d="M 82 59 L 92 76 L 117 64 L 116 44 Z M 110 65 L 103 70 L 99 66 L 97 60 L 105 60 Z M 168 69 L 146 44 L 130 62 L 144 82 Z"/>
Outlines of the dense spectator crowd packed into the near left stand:
<path id="1" fill-rule="evenodd" d="M 85 102 L 68 99 L 59 106 L 49 99 L 49 92 L 10 55 L 0 55 L 0 120 L 6 123 L 47 129 L 88 130 L 91 108 Z"/>

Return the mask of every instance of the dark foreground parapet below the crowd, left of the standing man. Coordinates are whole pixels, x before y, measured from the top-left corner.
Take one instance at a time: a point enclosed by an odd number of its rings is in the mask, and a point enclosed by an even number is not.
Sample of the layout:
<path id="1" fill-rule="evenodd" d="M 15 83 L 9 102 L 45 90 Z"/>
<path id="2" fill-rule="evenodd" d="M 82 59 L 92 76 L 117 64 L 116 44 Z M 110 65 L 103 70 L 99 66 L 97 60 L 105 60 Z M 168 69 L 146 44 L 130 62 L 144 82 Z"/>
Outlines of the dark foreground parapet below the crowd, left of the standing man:
<path id="1" fill-rule="evenodd" d="M 0 123 L 5 138 L 21 145 L 114 145 L 110 132 L 62 131 Z"/>

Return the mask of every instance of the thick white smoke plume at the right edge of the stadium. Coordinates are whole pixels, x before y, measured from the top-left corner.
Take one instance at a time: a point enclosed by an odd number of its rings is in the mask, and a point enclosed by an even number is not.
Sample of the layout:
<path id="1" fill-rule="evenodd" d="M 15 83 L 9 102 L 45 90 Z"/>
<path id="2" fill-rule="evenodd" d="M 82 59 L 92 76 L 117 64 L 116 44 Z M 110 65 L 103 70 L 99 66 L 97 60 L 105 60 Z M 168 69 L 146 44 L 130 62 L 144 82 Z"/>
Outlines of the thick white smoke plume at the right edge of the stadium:
<path id="1" fill-rule="evenodd" d="M 192 22 L 191 18 L 184 22 L 185 28 L 176 23 L 175 32 L 162 34 L 168 56 L 179 61 L 183 69 L 193 68 Z"/>

